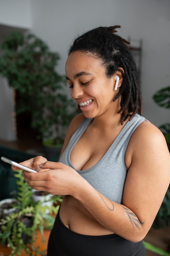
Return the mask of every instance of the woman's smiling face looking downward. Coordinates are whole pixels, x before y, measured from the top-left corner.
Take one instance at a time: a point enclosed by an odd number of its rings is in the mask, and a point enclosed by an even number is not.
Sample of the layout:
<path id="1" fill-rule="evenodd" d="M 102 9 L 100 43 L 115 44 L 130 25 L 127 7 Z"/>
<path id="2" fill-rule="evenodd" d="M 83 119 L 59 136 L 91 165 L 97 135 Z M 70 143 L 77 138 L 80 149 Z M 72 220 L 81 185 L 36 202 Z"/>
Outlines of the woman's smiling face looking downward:
<path id="1" fill-rule="evenodd" d="M 66 61 L 65 72 L 71 97 L 85 117 L 98 117 L 110 111 L 113 115 L 115 79 L 114 75 L 107 78 L 100 59 L 92 54 L 72 52 Z"/>

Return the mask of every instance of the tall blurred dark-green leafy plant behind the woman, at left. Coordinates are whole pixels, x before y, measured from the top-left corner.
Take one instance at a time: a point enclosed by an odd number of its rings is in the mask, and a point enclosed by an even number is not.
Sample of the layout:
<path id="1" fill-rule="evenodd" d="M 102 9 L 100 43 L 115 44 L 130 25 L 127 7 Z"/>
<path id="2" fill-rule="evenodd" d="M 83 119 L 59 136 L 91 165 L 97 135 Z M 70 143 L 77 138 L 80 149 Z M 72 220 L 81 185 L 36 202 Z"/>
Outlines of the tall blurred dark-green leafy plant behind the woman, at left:
<path id="1" fill-rule="evenodd" d="M 65 77 L 56 71 L 59 54 L 37 36 L 17 30 L 4 38 L 1 48 L 0 74 L 16 92 L 17 116 L 30 115 L 31 128 L 46 146 L 63 144 L 78 107 L 65 92 Z"/>

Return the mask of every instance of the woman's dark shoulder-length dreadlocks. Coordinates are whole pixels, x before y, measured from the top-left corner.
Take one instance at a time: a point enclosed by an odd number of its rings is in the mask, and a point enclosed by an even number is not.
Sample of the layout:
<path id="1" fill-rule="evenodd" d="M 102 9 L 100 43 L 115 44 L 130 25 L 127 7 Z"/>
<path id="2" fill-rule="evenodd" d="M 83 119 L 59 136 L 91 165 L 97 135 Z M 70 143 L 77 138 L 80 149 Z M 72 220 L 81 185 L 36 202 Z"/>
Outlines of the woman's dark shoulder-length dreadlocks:
<path id="1" fill-rule="evenodd" d="M 142 94 L 136 64 L 128 46 L 130 43 L 114 34 L 117 28 L 120 28 L 120 25 L 87 31 L 74 40 L 68 55 L 76 51 L 91 53 L 105 65 L 108 78 L 111 78 L 116 70 L 122 73 L 123 82 L 113 101 L 121 95 L 121 108 L 118 113 L 122 112 L 123 124 L 128 117 L 130 121 L 136 113 L 142 115 Z M 122 67 L 124 72 L 119 67 Z"/>

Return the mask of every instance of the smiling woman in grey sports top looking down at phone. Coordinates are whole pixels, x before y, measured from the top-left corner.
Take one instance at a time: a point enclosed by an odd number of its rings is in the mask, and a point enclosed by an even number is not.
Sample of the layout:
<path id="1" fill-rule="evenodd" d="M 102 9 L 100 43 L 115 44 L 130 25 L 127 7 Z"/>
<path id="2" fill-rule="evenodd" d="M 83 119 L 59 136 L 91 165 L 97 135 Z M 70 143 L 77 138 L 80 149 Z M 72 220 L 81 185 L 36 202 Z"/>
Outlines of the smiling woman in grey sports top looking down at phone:
<path id="1" fill-rule="evenodd" d="M 34 189 L 65 195 L 48 256 L 144 256 L 148 233 L 170 182 L 164 136 L 142 117 L 136 65 L 114 27 L 74 40 L 65 65 L 74 117 L 59 162 L 22 164 Z M 12 167 L 16 170 L 16 167 Z"/>

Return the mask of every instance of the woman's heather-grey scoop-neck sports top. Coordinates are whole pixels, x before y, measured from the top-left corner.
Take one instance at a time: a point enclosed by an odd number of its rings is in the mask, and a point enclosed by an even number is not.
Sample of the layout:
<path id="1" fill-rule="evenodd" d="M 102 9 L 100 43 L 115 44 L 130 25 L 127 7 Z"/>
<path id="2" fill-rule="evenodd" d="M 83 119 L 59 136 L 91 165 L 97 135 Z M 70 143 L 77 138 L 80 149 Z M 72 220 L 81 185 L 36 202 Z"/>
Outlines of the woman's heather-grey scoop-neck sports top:
<path id="1" fill-rule="evenodd" d="M 67 148 L 65 148 L 60 158 L 60 162 L 74 168 L 70 161 L 70 153 L 92 120 L 93 119 L 87 118 L 83 120 L 76 132 L 72 135 Z M 100 193 L 120 204 L 122 203 L 124 183 L 127 174 L 124 163 L 126 148 L 134 130 L 144 120 L 144 117 L 136 114 L 131 121 L 128 121 L 102 159 L 92 168 L 85 171 L 79 171 L 74 168 Z"/>

